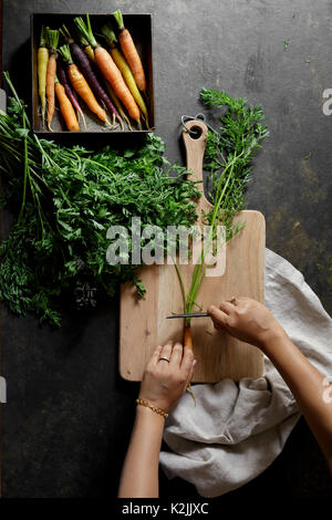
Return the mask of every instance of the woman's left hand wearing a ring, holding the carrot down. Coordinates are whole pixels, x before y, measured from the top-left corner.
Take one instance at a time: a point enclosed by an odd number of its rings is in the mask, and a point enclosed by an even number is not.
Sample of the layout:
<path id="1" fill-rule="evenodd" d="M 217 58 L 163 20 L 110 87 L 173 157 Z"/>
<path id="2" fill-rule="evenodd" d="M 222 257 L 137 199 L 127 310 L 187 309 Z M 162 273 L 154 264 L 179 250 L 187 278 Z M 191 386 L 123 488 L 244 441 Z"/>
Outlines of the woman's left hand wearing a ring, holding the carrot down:
<path id="1" fill-rule="evenodd" d="M 195 365 L 191 349 L 172 341 L 157 346 L 145 368 L 138 397 L 168 412 L 185 393 Z"/>

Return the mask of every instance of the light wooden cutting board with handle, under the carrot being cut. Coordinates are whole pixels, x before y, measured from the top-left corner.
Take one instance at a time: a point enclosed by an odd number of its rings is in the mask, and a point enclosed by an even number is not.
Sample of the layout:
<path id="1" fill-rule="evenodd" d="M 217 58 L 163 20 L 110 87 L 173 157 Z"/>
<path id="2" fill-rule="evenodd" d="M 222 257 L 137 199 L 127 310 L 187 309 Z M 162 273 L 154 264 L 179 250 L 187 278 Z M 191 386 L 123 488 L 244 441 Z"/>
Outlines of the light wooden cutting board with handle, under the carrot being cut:
<path id="1" fill-rule="evenodd" d="M 183 138 L 187 168 L 201 180 L 207 127 L 199 121 L 186 125 L 200 133 L 199 138 L 193 138 L 184 131 Z M 204 194 L 203 185 L 200 189 Z M 201 215 L 201 209 L 210 208 L 210 202 L 203 195 L 197 215 Z M 246 227 L 227 242 L 225 273 L 204 280 L 197 298 L 203 310 L 234 295 L 246 295 L 263 302 L 264 218 L 259 211 L 246 210 L 240 211 L 235 221 L 246 222 Z M 188 289 L 194 266 L 189 263 L 179 268 Z M 120 373 L 128 381 L 142 381 L 146 363 L 158 344 L 165 344 L 169 339 L 183 341 L 184 320 L 166 320 L 173 312 L 183 312 L 174 266 L 144 267 L 139 274 L 147 288 L 146 300 L 137 300 L 132 284 L 126 283 L 121 288 Z M 216 331 L 209 318 L 193 319 L 191 330 L 195 357 L 198 360 L 193 382 L 214 383 L 225 377 L 239 381 L 241 377 L 257 378 L 262 375 L 263 356 L 258 349 Z"/>

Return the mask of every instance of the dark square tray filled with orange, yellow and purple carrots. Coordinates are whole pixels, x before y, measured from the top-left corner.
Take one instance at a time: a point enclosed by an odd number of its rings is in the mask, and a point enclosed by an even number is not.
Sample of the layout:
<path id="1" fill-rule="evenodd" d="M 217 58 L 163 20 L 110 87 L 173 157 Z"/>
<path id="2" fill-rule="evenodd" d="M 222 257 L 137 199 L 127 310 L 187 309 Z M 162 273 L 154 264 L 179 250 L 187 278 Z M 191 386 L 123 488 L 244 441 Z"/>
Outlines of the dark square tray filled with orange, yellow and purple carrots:
<path id="1" fill-rule="evenodd" d="M 154 129 L 151 14 L 31 15 L 37 133 Z"/>

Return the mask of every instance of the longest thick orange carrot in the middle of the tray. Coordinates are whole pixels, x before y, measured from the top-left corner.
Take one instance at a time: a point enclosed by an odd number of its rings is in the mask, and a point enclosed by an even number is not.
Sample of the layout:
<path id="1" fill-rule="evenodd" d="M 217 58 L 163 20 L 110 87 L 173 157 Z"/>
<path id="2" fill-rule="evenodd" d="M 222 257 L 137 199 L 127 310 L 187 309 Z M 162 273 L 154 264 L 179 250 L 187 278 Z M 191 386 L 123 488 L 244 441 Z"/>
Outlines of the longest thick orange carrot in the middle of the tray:
<path id="1" fill-rule="evenodd" d="M 127 110 L 129 116 L 139 124 L 139 108 L 136 105 L 136 102 L 131 94 L 127 85 L 124 82 L 124 79 L 115 65 L 111 54 L 101 46 L 92 32 L 90 18 L 86 14 L 87 24 L 85 25 L 82 18 L 75 18 L 75 23 L 79 28 L 79 31 L 84 35 L 84 38 L 89 41 L 89 43 L 94 49 L 94 59 L 97 67 L 100 69 L 101 73 L 103 74 L 104 79 L 111 84 L 114 94 L 121 100 L 125 108 Z"/>

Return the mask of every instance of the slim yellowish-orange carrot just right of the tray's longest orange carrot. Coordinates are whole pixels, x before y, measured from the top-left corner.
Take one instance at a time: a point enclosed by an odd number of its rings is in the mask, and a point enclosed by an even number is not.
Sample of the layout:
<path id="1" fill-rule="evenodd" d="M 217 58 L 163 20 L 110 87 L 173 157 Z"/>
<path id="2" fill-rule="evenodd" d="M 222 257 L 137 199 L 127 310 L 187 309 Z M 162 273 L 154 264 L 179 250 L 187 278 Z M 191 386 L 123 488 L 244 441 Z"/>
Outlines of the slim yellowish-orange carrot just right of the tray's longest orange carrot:
<path id="1" fill-rule="evenodd" d="M 125 61 L 123 53 L 120 51 L 120 49 L 116 48 L 116 44 L 115 44 L 115 42 L 117 41 L 116 37 L 115 37 L 114 32 L 112 31 L 112 28 L 110 25 L 104 25 L 102 28 L 102 33 L 105 37 L 105 40 L 106 40 L 106 42 L 108 43 L 108 45 L 111 48 L 111 55 L 112 55 L 116 66 L 118 67 L 120 72 L 122 73 L 122 75 L 124 77 L 124 81 L 126 82 L 131 93 L 133 94 L 134 100 L 136 101 L 137 105 L 139 106 L 141 112 L 142 112 L 142 114 L 144 116 L 144 119 L 146 122 L 146 125 L 148 127 L 148 115 L 147 115 L 146 105 L 145 105 L 144 100 L 143 100 L 143 97 L 142 97 L 138 89 L 137 89 L 137 85 L 136 85 L 135 79 L 133 76 L 133 73 L 132 73 L 127 62 Z"/>

